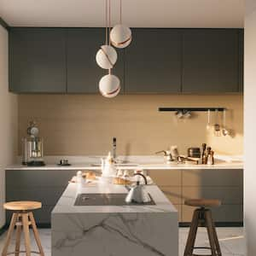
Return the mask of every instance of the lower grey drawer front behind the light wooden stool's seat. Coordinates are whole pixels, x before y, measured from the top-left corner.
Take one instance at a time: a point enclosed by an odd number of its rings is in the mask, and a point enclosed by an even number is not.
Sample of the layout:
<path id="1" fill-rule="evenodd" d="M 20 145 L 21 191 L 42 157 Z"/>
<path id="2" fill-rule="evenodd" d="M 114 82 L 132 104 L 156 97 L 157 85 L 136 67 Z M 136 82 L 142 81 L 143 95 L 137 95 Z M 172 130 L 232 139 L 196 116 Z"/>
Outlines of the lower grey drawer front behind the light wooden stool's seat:
<path id="1" fill-rule="evenodd" d="M 40 201 L 43 206 L 55 206 L 66 187 L 38 187 L 31 189 L 13 189 L 7 187 L 6 201 Z"/>

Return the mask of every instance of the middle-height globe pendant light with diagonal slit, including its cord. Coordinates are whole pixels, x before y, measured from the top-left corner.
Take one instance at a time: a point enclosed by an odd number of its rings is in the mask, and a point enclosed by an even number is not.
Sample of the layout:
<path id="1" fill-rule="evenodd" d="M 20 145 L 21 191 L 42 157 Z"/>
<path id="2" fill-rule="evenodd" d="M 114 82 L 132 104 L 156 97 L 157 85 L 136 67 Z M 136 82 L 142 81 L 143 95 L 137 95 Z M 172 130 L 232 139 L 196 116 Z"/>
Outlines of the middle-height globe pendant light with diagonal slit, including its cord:
<path id="1" fill-rule="evenodd" d="M 109 1 L 109 8 L 110 8 L 110 1 Z M 110 11 L 108 14 L 108 0 L 106 0 L 106 7 L 105 7 L 105 15 L 106 15 L 106 35 L 105 35 L 105 44 L 101 46 L 101 48 L 96 53 L 96 62 L 97 64 L 102 67 L 103 69 L 110 69 L 113 68 L 113 65 L 117 61 L 118 55 L 115 49 L 108 44 L 108 19 L 110 20 Z"/>

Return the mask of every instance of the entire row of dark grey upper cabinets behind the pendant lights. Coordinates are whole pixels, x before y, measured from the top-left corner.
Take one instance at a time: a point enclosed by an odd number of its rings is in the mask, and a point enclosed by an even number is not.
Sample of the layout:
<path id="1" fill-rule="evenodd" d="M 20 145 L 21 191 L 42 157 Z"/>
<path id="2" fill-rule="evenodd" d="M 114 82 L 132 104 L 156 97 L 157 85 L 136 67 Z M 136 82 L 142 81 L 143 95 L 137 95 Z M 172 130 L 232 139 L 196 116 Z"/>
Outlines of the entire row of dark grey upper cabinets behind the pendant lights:
<path id="1" fill-rule="evenodd" d="M 132 28 L 116 49 L 121 92 L 237 93 L 243 90 L 242 29 Z M 9 90 L 99 93 L 108 73 L 96 64 L 104 28 L 9 29 Z"/>

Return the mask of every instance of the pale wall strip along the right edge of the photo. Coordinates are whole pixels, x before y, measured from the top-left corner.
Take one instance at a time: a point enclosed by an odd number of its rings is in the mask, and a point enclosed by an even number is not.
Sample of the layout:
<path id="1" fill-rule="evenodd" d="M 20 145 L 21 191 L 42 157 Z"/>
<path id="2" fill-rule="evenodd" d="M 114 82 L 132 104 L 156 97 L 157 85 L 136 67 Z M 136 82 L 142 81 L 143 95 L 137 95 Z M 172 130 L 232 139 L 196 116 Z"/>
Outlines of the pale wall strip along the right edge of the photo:
<path id="1" fill-rule="evenodd" d="M 256 1 L 247 0 L 245 20 L 245 179 L 247 256 L 256 255 Z"/>

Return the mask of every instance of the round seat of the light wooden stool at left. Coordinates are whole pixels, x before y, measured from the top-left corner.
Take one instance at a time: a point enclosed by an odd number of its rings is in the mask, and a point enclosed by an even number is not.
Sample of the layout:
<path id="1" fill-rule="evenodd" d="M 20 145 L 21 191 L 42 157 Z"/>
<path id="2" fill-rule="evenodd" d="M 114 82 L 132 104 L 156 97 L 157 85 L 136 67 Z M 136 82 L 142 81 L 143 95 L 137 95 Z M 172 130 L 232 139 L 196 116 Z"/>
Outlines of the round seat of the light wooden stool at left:
<path id="1" fill-rule="evenodd" d="M 3 208 L 11 211 L 32 211 L 40 209 L 42 203 L 39 201 L 9 201 L 3 204 Z"/>

